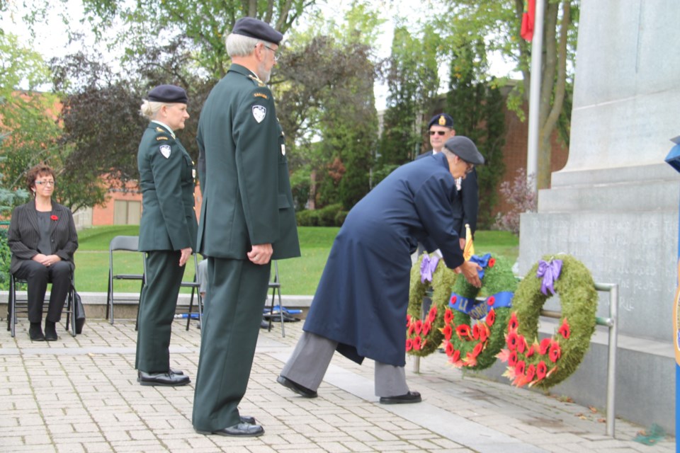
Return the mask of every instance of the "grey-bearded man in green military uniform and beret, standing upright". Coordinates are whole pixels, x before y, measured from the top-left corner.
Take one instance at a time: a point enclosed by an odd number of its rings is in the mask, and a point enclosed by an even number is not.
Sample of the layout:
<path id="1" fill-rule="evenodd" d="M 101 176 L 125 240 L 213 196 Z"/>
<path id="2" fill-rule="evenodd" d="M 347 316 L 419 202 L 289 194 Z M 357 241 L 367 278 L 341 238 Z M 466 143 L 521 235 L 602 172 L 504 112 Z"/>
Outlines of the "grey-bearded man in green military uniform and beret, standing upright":
<path id="1" fill-rule="evenodd" d="M 271 260 L 300 256 L 283 130 L 266 82 L 283 35 L 242 18 L 227 37 L 232 66 L 212 89 L 198 123 L 205 180 L 198 251 L 208 256 L 193 427 L 259 436 L 239 414 L 255 354 Z"/>

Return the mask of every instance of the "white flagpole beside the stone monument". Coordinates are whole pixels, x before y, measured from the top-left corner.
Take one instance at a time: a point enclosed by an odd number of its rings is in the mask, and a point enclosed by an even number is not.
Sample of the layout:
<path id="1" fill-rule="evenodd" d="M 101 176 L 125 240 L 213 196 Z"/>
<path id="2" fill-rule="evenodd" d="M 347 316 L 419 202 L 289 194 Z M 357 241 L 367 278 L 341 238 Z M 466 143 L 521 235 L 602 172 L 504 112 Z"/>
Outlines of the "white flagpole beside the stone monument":
<path id="1" fill-rule="evenodd" d="M 531 85 L 529 86 L 529 133 L 526 150 L 526 181 L 536 192 L 538 180 L 538 134 L 540 125 L 538 114 L 540 109 L 541 59 L 543 57 L 543 16 L 545 0 L 536 0 L 536 16 L 531 40 Z M 536 176 L 532 178 L 532 176 Z"/>

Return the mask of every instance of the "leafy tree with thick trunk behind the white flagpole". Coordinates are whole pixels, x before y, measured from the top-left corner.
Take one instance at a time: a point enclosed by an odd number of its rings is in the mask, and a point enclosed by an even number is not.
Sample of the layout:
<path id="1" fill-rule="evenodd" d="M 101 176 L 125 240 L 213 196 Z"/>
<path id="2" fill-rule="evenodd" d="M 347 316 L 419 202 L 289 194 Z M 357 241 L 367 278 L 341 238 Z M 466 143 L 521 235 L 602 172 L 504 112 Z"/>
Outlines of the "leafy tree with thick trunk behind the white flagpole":
<path id="1" fill-rule="evenodd" d="M 543 23 L 543 64 L 541 68 L 538 188 L 550 185 L 550 137 L 555 128 L 568 130 L 571 112 L 570 85 L 576 49 L 579 0 L 545 0 Z M 531 42 L 520 35 L 524 0 L 455 0 L 446 13 L 433 16 L 443 38 L 460 36 L 484 38 L 487 51 L 516 62 L 523 83 L 517 85 L 508 99 L 521 119 L 523 101 L 528 101 L 531 84 Z M 563 134 L 562 134 L 563 136 Z"/>

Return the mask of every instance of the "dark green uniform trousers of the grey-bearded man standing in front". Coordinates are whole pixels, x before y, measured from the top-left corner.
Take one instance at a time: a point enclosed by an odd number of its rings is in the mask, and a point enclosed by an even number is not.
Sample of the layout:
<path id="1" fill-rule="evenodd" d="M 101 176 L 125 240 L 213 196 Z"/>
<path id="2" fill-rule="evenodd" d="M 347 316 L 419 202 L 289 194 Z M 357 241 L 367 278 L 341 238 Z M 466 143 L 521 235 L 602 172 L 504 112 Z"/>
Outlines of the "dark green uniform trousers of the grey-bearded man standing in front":
<path id="1" fill-rule="evenodd" d="M 201 323 L 193 428 L 215 431 L 241 422 L 238 405 L 253 365 L 271 262 L 208 257 L 210 300 Z"/>

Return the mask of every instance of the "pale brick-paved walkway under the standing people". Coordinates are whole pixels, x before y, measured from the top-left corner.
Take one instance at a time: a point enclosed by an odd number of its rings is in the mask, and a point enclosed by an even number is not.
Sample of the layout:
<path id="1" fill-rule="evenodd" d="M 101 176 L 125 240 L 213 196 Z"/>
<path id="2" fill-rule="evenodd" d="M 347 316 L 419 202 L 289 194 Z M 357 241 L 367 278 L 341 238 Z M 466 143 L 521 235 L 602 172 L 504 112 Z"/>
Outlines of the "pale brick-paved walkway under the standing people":
<path id="1" fill-rule="evenodd" d="M 173 367 L 196 377 L 200 331 L 177 320 Z M 191 426 L 193 382 L 151 387 L 136 382 L 135 323 L 87 321 L 72 338 L 31 343 L 28 323 L 16 338 L 0 331 L 0 452 L 675 452 L 675 439 L 633 441 L 643 428 L 616 420 L 606 437 L 604 415 L 536 391 L 463 376 L 435 353 L 411 372 L 419 404 L 385 406 L 373 395 L 373 362 L 336 355 L 319 398 L 276 384 L 302 323 L 262 331 L 244 415 L 262 437 L 197 434 Z"/>

